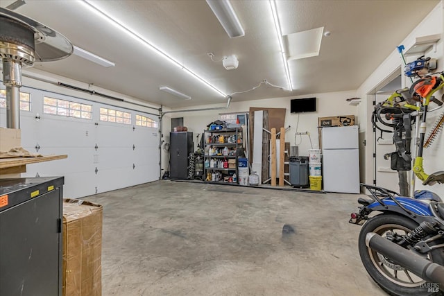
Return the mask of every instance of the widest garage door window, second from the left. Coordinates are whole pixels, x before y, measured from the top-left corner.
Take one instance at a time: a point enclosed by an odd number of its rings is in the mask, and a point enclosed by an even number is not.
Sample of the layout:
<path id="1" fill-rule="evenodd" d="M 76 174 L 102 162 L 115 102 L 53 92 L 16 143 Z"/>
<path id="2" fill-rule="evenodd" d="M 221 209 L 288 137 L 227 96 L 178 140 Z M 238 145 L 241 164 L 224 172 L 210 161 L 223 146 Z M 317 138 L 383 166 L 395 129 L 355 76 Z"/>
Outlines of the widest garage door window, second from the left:
<path id="1" fill-rule="evenodd" d="M 79 119 L 92 119 L 92 105 L 80 104 L 59 98 L 43 99 L 43 112 L 45 114 L 76 117 Z"/>

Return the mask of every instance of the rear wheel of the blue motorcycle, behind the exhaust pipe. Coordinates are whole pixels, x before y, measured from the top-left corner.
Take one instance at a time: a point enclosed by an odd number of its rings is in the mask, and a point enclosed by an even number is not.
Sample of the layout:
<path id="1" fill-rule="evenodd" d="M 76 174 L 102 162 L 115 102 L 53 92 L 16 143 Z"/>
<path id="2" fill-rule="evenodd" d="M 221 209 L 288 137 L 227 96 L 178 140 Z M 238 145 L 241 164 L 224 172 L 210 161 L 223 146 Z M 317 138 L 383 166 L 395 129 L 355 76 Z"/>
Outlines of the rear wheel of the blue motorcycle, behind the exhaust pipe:
<path id="1" fill-rule="evenodd" d="M 409 218 L 394 214 L 380 214 L 370 218 L 359 233 L 359 255 L 361 256 L 361 261 L 370 277 L 389 295 L 443 295 L 439 291 L 438 284 L 427 283 L 409 270 L 393 263 L 390 259 L 366 246 L 366 234 L 368 232 L 375 232 L 385 238 L 393 233 L 405 235 L 416 227 L 418 227 L 418 223 Z M 427 259 L 444 265 L 443 255 L 442 248 L 436 249 L 427 254 Z"/>

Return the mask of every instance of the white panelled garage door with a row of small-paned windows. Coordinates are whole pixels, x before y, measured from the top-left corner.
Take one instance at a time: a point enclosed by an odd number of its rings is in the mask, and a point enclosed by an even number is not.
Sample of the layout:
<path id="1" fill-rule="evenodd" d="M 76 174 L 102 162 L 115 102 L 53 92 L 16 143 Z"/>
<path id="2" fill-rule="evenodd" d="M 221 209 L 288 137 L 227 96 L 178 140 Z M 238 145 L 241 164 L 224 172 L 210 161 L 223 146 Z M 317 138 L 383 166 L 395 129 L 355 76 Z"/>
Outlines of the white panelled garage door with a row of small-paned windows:
<path id="1" fill-rule="evenodd" d="M 68 155 L 28 165 L 24 177 L 65 176 L 69 198 L 159 179 L 157 116 L 39 89 L 20 90 L 31 94 L 31 111 L 20 112 L 22 146 L 42 155 Z M 6 127 L 4 108 L 0 115 L 0 126 Z"/>

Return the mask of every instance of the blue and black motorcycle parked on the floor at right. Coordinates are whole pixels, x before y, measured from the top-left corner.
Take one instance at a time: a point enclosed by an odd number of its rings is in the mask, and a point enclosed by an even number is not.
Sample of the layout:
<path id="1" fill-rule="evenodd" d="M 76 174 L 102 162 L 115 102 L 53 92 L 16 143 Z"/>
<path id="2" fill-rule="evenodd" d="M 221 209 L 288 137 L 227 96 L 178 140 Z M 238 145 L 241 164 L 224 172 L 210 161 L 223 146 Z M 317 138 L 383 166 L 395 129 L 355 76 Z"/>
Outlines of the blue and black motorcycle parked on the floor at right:
<path id="1" fill-rule="evenodd" d="M 359 254 L 370 277 L 389 295 L 441 295 L 444 202 L 430 191 L 417 191 L 414 198 L 407 198 L 361 185 L 371 199 L 359 198 L 359 213 L 352 213 L 349 222 L 364 225 Z"/>

